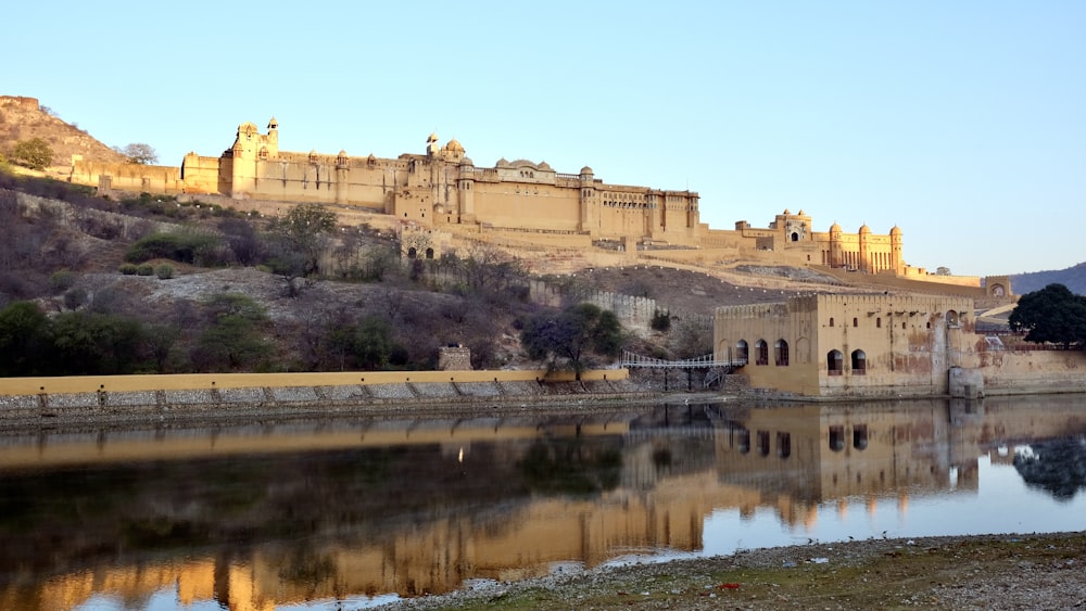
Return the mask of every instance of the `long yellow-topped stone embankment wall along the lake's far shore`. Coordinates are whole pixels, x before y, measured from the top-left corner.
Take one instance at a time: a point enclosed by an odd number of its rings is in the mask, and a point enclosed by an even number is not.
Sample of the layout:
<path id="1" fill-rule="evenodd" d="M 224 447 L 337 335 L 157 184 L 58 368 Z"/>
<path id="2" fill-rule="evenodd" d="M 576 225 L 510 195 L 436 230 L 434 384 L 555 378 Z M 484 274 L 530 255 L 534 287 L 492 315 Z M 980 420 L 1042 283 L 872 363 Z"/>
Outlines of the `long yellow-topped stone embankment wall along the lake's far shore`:
<path id="1" fill-rule="evenodd" d="M 248 418 L 647 397 L 626 369 L 242 373 L 0 379 L 0 428 L 35 422 Z"/>

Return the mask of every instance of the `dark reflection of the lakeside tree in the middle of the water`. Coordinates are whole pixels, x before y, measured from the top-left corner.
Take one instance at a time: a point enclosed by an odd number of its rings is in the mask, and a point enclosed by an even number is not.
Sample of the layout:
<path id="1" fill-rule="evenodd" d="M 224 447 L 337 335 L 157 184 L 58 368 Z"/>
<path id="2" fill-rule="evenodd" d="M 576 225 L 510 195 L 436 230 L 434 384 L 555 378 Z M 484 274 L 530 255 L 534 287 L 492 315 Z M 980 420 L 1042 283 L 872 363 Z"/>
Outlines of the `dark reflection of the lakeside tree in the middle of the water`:
<path id="1" fill-rule="evenodd" d="M 543 440 L 525 453 L 519 466 L 533 491 L 594 494 L 618 486 L 622 454 L 614 447 L 590 447 L 583 440 Z"/>

